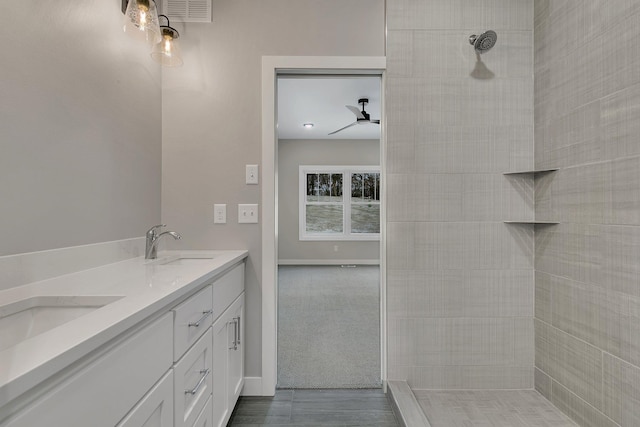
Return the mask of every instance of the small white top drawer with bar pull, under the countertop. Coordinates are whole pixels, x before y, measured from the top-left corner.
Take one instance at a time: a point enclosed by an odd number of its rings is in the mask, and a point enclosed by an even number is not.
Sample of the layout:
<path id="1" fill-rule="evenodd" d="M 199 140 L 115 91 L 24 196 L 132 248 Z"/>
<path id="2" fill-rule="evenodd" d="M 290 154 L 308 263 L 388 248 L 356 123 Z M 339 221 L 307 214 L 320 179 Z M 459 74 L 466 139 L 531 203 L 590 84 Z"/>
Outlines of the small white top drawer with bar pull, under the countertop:
<path id="1" fill-rule="evenodd" d="M 173 309 L 173 360 L 178 361 L 185 351 L 213 324 L 211 285 Z"/>

